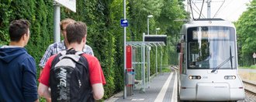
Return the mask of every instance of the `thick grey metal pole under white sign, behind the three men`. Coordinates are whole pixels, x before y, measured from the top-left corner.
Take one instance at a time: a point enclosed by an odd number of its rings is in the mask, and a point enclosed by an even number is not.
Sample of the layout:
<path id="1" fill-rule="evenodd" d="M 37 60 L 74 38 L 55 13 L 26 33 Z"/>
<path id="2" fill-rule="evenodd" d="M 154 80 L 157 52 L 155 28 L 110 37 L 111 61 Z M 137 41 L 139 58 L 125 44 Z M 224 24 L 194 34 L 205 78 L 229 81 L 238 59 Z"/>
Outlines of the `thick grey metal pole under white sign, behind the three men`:
<path id="1" fill-rule="evenodd" d="M 61 42 L 61 5 L 54 2 L 54 42 Z"/>

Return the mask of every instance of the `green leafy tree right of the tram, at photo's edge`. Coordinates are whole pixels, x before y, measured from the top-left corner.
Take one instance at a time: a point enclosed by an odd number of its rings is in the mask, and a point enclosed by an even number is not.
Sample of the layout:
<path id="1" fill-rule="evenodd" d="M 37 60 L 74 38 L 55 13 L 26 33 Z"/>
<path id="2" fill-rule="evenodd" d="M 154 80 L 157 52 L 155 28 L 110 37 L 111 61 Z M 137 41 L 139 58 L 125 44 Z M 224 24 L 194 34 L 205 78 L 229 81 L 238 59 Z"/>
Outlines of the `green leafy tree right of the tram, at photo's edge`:
<path id="1" fill-rule="evenodd" d="M 237 27 L 237 42 L 240 56 L 240 64 L 242 66 L 248 66 L 253 63 L 252 55 L 256 49 L 256 1 L 253 0 L 248 5 L 247 11 L 243 12 L 238 21 L 236 22 Z"/>

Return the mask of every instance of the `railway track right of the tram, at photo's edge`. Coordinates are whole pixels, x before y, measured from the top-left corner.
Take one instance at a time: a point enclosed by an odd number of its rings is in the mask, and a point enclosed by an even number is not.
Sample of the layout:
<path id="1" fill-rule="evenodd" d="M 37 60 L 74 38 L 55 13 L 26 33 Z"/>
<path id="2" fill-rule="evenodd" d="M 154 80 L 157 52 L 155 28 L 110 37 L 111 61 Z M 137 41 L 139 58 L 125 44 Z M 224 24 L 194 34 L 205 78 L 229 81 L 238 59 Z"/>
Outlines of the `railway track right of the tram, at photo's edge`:
<path id="1" fill-rule="evenodd" d="M 252 83 L 247 80 L 243 80 L 244 83 L 244 90 L 247 91 L 248 93 L 252 93 L 256 95 L 256 83 Z"/>

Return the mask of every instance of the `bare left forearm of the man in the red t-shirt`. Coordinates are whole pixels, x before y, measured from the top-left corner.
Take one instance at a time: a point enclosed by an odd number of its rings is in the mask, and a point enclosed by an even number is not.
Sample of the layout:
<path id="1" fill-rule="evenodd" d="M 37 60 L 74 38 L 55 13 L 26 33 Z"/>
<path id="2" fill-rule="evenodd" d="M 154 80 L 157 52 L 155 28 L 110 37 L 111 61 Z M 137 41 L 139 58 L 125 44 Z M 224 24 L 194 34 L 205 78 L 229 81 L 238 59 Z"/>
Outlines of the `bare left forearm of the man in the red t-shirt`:
<path id="1" fill-rule="evenodd" d="M 40 97 L 44 97 L 47 100 L 47 102 L 51 101 L 49 87 L 47 87 L 43 83 L 39 83 L 38 94 Z"/>

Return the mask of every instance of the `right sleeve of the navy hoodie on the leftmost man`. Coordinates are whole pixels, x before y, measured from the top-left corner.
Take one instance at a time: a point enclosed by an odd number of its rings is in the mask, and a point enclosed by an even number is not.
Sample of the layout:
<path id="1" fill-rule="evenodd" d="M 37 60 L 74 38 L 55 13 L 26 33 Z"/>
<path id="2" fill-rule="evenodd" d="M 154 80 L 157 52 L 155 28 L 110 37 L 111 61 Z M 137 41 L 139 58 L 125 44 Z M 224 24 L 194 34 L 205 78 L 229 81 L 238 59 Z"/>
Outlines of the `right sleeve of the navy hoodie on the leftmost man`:
<path id="1" fill-rule="evenodd" d="M 36 62 L 30 58 L 25 58 L 22 63 L 22 94 L 25 101 L 36 101 L 37 85 L 36 85 Z"/>

